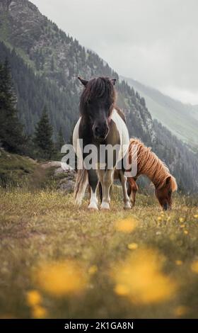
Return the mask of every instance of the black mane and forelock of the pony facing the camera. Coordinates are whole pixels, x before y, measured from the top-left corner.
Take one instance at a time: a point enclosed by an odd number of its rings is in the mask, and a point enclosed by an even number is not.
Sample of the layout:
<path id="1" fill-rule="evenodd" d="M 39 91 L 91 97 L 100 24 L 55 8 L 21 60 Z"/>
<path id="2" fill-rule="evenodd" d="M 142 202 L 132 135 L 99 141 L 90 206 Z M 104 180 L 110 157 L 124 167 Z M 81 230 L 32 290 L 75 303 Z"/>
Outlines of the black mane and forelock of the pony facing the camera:
<path id="1" fill-rule="evenodd" d="M 80 101 L 80 113 L 84 114 L 86 105 L 95 99 L 103 98 L 103 100 L 110 101 L 112 109 L 115 107 L 116 93 L 112 81 L 109 77 L 98 77 L 91 79 L 86 84 Z"/>

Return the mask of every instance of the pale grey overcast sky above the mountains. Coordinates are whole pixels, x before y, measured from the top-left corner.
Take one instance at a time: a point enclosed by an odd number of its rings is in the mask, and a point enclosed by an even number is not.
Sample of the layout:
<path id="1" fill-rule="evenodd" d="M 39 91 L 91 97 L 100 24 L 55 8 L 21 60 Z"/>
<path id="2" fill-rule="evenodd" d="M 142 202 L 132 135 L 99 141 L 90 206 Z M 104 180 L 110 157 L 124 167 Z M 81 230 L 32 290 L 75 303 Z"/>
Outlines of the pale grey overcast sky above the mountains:
<path id="1" fill-rule="evenodd" d="M 198 104 L 197 0 L 30 0 L 118 74 Z"/>

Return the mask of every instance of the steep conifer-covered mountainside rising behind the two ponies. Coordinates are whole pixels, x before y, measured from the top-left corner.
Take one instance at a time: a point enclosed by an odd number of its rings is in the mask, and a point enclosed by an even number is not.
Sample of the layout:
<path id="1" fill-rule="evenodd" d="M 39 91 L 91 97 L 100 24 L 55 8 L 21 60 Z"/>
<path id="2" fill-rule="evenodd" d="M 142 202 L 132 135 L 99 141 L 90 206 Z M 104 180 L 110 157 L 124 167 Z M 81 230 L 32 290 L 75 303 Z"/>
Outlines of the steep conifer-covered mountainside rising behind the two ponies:
<path id="1" fill-rule="evenodd" d="M 11 64 L 19 115 L 28 134 L 33 134 L 42 109 L 47 106 L 54 139 L 62 126 L 64 139 L 70 140 L 82 91 L 78 75 L 86 79 L 116 78 L 117 103 L 127 116 L 129 134 L 153 147 L 180 180 L 180 189 L 198 190 L 197 157 L 165 128 L 153 124 L 138 92 L 125 81 L 120 82 L 108 64 L 59 30 L 30 1 L 1 1 L 0 40 L 0 62 L 7 57 Z"/>

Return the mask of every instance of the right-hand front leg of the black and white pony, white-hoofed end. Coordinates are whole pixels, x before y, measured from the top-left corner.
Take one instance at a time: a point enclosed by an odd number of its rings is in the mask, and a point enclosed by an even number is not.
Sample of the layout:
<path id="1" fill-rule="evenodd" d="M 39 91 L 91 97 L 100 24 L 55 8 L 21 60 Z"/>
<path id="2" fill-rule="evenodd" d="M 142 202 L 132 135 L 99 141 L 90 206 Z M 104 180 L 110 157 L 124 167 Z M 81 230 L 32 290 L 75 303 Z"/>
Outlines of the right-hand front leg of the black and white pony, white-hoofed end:
<path id="1" fill-rule="evenodd" d="M 110 209 L 110 187 L 112 186 L 114 170 L 98 170 L 98 177 L 103 190 L 103 201 L 100 209 Z"/>

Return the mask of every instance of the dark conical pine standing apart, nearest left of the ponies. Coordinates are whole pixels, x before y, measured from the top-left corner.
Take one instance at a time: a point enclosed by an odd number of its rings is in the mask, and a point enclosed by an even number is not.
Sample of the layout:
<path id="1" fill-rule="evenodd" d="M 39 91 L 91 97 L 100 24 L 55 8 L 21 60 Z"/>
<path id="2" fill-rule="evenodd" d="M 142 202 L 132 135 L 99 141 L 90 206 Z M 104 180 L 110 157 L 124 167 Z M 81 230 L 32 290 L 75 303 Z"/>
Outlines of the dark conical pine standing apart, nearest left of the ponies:
<path id="1" fill-rule="evenodd" d="M 54 144 L 52 141 L 53 128 L 47 114 L 47 108 L 42 111 L 39 122 L 35 128 L 34 142 L 39 149 L 40 157 L 50 159 L 54 153 Z"/>

